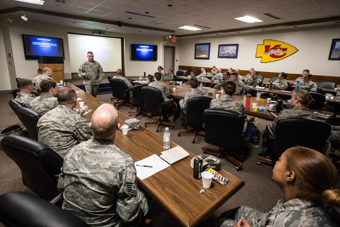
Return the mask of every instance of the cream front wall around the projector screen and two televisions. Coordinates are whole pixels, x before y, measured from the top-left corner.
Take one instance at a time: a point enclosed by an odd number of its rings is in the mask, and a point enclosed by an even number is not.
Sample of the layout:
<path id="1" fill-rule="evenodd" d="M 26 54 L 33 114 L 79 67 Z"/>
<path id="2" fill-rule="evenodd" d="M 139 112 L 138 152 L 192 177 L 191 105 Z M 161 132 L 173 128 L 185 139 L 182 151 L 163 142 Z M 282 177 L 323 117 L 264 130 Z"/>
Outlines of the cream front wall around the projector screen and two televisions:
<path id="1" fill-rule="evenodd" d="M 7 23 L 7 20 L 5 20 Z M 3 28 L 2 28 L 3 29 Z M 70 67 L 70 60 L 69 60 L 69 47 L 68 47 L 68 39 L 67 39 L 67 32 L 77 32 L 77 33 L 86 33 L 92 34 L 92 30 L 86 29 L 79 29 L 79 28 L 71 28 L 65 26 L 58 26 L 52 24 L 45 24 L 36 21 L 23 21 L 20 19 L 14 20 L 12 23 L 8 23 L 8 29 L 10 32 L 11 37 L 11 44 L 13 49 L 13 58 L 15 59 L 15 74 L 8 77 L 8 75 L 1 75 L 2 81 L 5 82 L 6 86 L 1 86 L 1 90 L 10 90 L 16 88 L 12 84 L 9 86 L 10 80 L 15 79 L 15 77 L 21 78 L 32 78 L 36 74 L 38 69 L 37 60 L 25 60 L 24 51 L 23 51 L 23 44 L 22 44 L 22 37 L 21 34 L 28 34 L 28 35 L 41 35 L 47 37 L 56 37 L 63 39 L 64 43 L 64 76 L 65 79 L 71 78 L 71 67 Z M 135 35 L 135 34 L 121 34 L 121 33 L 113 33 L 113 32 L 106 32 L 105 34 L 108 36 L 116 36 L 116 37 L 124 37 L 124 61 L 125 61 L 125 75 L 126 76 L 139 76 L 143 75 L 143 72 L 147 74 L 153 74 L 157 72 L 157 66 L 162 65 L 163 63 L 163 44 L 162 44 L 162 36 L 154 36 L 154 35 Z M 151 44 L 151 45 L 158 45 L 158 57 L 157 61 L 131 61 L 130 57 L 130 48 L 131 44 Z M 5 58 L 5 51 L 2 51 L 1 48 L 4 48 L 3 39 L 1 38 L 0 41 L 0 55 L 1 60 Z M 84 61 L 87 60 L 86 56 L 84 56 Z M 1 72 L 6 71 L 8 68 L 6 64 L 2 64 L 0 62 L 0 70 Z M 178 67 L 178 66 L 177 66 Z M 7 69 L 8 72 L 8 69 Z"/>

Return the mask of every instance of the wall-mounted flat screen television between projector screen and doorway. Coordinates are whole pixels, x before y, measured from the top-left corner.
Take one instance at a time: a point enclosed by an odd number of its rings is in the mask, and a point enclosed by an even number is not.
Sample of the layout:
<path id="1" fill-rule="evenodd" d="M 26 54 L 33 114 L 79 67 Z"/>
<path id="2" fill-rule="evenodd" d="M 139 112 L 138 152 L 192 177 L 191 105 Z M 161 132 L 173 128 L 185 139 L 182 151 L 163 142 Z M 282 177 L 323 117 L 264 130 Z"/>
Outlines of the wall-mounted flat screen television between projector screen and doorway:
<path id="1" fill-rule="evenodd" d="M 131 44 L 131 60 L 157 61 L 157 45 Z"/>

